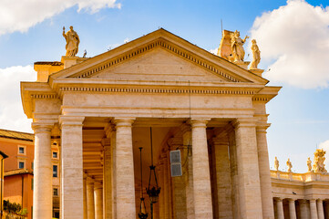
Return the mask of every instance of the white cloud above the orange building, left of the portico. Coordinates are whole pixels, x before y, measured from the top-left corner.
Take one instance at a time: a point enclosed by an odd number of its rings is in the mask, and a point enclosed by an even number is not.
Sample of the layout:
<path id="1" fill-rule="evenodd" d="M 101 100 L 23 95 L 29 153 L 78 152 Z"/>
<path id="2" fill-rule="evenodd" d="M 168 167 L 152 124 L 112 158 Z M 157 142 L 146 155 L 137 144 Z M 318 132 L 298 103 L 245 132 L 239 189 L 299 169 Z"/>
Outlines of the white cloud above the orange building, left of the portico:
<path id="1" fill-rule="evenodd" d="M 32 66 L 0 68 L 0 129 L 31 132 L 31 120 L 23 112 L 20 81 L 36 81 Z"/>

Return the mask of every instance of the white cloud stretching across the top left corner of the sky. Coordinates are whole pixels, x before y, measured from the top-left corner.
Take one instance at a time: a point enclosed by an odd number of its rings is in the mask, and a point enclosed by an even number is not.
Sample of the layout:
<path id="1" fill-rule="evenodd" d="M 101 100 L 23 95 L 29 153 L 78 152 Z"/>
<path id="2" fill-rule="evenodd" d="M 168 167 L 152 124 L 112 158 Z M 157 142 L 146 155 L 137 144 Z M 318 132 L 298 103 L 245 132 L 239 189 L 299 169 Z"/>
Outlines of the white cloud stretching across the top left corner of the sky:
<path id="1" fill-rule="evenodd" d="M 77 11 L 93 14 L 103 7 L 121 5 L 116 0 L 1 0 L 0 36 L 15 31 L 26 32 L 31 26 L 77 5 Z"/>

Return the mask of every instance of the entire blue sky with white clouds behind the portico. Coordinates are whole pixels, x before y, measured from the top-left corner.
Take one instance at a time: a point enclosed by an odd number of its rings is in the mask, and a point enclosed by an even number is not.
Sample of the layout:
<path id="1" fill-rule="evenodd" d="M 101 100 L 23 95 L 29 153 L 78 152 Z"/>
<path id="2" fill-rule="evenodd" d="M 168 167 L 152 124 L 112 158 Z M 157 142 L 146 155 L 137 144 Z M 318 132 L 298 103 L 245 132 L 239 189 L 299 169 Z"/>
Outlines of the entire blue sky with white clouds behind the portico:
<path id="1" fill-rule="evenodd" d="M 277 156 L 280 170 L 290 158 L 293 172 L 306 172 L 307 157 L 324 148 L 329 170 L 327 0 L 1 0 L 0 129 L 32 132 L 19 81 L 36 80 L 34 62 L 65 55 L 63 26 L 80 37 L 77 56 L 94 57 L 159 27 L 215 53 L 221 24 L 257 40 L 263 77 L 283 87 L 267 104 L 272 169 Z"/>

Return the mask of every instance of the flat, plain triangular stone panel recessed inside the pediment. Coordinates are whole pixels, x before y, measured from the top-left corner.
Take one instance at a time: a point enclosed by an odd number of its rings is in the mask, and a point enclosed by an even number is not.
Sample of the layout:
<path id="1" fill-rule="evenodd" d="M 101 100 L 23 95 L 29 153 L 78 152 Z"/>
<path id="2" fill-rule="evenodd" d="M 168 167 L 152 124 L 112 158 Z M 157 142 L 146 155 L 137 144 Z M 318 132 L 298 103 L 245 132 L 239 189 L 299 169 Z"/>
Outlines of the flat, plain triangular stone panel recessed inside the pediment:
<path id="1" fill-rule="evenodd" d="M 229 78 L 219 77 L 211 70 L 200 68 L 192 62 L 171 54 L 163 48 L 155 48 L 142 56 L 121 65 L 107 68 L 90 78 L 123 80 L 161 81 L 215 81 L 228 82 Z"/>

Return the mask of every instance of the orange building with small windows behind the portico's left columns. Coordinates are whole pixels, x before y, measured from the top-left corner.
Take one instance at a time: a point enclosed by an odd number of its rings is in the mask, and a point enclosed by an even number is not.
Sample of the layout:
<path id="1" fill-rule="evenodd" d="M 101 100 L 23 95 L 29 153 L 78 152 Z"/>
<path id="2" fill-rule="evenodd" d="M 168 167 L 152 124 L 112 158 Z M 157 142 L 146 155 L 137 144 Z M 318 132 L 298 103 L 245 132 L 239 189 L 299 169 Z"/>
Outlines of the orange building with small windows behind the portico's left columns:
<path id="1" fill-rule="evenodd" d="M 33 166 L 34 166 L 34 134 L 14 130 L 0 130 L 0 151 L 4 151 L 5 186 L 4 200 L 19 203 L 27 210 L 27 218 L 33 218 Z M 57 145 L 53 151 L 53 207 L 54 218 L 59 218 L 59 154 Z"/>

